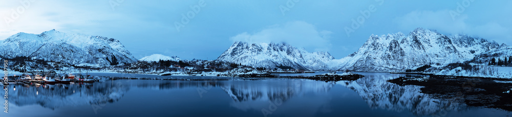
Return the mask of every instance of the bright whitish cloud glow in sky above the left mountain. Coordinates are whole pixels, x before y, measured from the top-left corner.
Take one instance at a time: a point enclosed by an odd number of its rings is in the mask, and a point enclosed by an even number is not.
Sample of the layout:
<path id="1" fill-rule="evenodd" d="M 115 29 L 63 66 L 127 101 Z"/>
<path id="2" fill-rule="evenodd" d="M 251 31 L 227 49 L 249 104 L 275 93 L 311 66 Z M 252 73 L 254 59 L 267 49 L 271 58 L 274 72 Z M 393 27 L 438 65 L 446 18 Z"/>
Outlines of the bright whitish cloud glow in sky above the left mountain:
<path id="1" fill-rule="evenodd" d="M 40 34 L 55 29 L 94 35 L 105 30 L 113 31 L 109 27 L 123 30 L 128 24 L 141 24 L 134 20 L 134 15 L 122 14 L 121 10 L 112 11 L 109 1 L 24 0 L 7 2 L 3 6 L 0 7 L 0 40 L 19 32 Z"/>

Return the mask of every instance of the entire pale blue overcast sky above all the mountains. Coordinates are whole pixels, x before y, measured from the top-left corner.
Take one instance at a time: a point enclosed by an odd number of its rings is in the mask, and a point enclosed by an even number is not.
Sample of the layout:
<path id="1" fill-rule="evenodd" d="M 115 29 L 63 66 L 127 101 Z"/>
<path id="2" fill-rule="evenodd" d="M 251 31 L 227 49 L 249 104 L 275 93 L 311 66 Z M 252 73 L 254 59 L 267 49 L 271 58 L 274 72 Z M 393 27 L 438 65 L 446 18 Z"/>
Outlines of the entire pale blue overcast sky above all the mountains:
<path id="1" fill-rule="evenodd" d="M 118 39 L 136 58 L 160 53 L 214 60 L 234 41 L 286 42 L 342 58 L 357 51 L 372 34 L 408 34 L 416 27 L 512 45 L 512 1 L 506 0 L 0 3 L 1 40 L 19 32 L 55 29 Z"/>

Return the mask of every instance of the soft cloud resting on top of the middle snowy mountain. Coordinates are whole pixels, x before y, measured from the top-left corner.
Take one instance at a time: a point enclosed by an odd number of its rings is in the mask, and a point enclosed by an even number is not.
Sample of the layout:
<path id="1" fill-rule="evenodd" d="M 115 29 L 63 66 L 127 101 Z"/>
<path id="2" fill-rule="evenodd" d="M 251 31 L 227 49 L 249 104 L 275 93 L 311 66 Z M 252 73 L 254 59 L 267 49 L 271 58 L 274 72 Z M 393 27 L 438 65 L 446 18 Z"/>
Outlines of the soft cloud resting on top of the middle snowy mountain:
<path id="1" fill-rule="evenodd" d="M 251 43 L 285 42 L 296 47 L 304 47 L 308 51 L 327 51 L 331 46 L 331 34 L 330 31 L 319 31 L 313 24 L 304 21 L 291 21 L 268 26 L 257 33 L 244 32 L 230 39 Z"/>

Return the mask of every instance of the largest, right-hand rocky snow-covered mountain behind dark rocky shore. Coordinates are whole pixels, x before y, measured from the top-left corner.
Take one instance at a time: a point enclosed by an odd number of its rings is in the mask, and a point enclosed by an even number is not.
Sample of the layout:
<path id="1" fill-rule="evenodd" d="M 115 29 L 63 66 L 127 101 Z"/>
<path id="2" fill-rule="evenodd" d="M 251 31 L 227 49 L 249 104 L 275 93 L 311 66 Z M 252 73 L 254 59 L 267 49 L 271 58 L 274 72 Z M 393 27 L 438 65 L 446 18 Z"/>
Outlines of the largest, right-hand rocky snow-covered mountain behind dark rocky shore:
<path id="1" fill-rule="evenodd" d="M 340 60 L 339 70 L 402 71 L 424 65 L 441 67 L 472 60 L 483 52 L 506 48 L 494 41 L 466 35 L 446 36 L 436 31 L 416 28 L 402 33 L 372 35 L 353 54 Z"/>

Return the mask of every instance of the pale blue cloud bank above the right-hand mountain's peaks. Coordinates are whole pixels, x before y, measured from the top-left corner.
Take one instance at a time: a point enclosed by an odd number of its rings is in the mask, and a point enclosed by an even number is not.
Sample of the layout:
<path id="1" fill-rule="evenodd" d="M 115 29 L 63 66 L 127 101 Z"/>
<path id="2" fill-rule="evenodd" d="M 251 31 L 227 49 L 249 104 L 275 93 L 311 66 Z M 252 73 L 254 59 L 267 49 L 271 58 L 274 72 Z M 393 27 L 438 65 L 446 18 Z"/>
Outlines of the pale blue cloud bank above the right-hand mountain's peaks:
<path id="1" fill-rule="evenodd" d="M 467 34 L 499 43 L 510 43 L 512 34 L 510 28 L 492 21 L 479 20 L 478 23 L 466 23 L 467 14 L 452 17 L 450 10 L 439 11 L 413 11 L 406 15 L 396 17 L 394 22 L 401 30 L 411 31 L 417 27 L 424 27 L 448 34 Z"/>

